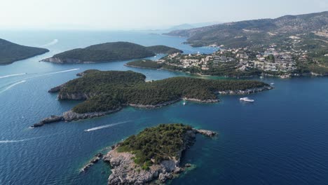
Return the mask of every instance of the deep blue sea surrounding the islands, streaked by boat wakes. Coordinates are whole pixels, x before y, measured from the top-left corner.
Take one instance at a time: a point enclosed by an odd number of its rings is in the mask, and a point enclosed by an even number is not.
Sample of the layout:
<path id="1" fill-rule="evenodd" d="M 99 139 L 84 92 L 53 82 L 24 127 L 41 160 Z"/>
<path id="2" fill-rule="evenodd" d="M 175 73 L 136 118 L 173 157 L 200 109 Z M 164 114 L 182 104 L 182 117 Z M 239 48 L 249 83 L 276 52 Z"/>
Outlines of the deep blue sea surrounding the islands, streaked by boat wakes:
<path id="1" fill-rule="evenodd" d="M 84 174 L 78 170 L 107 146 L 159 123 L 186 123 L 219 132 L 215 139 L 197 137 L 182 158 L 182 163 L 196 164 L 196 169 L 172 184 L 328 184 L 328 78 L 265 78 L 275 83 L 275 89 L 250 95 L 254 104 L 226 95 L 219 96 L 217 104 L 187 102 L 183 106 L 179 102 L 152 110 L 128 107 L 102 118 L 30 129 L 41 118 L 61 114 L 78 103 L 59 102 L 47 91 L 76 78 L 80 71 L 133 70 L 149 80 L 186 75 L 124 67 L 127 61 L 38 62 L 44 57 L 106 41 L 163 44 L 186 53 L 213 50 L 183 45 L 183 38 L 144 32 L 2 31 L 0 38 L 29 46 L 57 39 L 46 46 L 50 53 L 0 66 L 0 184 L 106 184 L 108 165 L 99 163 Z M 76 70 L 67 71 L 71 69 Z M 1 77 L 12 74 L 21 75 Z M 114 123 L 121 124 L 83 132 Z"/>

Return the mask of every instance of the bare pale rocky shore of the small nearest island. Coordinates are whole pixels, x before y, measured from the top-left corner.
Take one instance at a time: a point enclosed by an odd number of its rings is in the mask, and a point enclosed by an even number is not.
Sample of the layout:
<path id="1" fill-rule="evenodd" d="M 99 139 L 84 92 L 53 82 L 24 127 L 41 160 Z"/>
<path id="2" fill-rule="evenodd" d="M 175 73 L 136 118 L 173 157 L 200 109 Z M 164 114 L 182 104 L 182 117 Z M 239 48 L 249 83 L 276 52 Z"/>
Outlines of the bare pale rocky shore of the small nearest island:
<path id="1" fill-rule="evenodd" d="M 168 179 L 177 177 L 186 168 L 192 166 L 190 164 L 180 166 L 179 163 L 182 151 L 189 149 L 195 142 L 196 134 L 198 133 L 209 137 L 217 135 L 216 132 L 210 130 L 188 130 L 184 135 L 183 144 L 177 157 L 151 165 L 149 170 L 143 170 L 134 162 L 135 154 L 118 152 L 120 144 L 112 146 L 112 150 L 103 157 L 104 162 L 109 163 L 112 167 L 108 184 L 148 184 L 156 180 L 163 183 Z"/>

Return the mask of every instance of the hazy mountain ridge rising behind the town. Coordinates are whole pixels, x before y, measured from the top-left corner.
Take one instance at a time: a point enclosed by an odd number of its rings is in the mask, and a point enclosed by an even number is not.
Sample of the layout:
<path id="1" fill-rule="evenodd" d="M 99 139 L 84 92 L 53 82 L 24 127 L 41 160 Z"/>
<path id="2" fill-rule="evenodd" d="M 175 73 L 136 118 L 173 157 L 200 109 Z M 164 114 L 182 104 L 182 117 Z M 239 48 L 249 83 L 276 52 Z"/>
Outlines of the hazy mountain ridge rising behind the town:
<path id="1" fill-rule="evenodd" d="M 254 44 L 270 44 L 295 34 L 328 31 L 328 11 L 306 15 L 285 15 L 276 19 L 228 22 L 167 33 L 171 36 L 189 37 L 191 46 L 211 44 L 226 47 L 245 47 Z"/>

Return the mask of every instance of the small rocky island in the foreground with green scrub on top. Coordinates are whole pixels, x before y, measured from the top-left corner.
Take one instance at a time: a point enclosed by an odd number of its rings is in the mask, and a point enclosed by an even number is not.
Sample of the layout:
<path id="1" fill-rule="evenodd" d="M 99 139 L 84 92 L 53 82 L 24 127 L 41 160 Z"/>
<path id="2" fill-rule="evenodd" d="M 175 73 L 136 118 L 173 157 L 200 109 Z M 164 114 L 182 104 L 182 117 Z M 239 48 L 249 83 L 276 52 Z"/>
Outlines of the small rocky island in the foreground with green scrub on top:
<path id="1" fill-rule="evenodd" d="M 160 124 L 146 128 L 111 146 L 111 151 L 98 153 L 81 172 L 100 158 L 111 165 L 108 184 L 163 184 L 179 177 L 191 165 L 180 165 L 182 153 L 196 142 L 196 134 L 215 137 L 217 132 L 198 130 L 180 123 Z"/>

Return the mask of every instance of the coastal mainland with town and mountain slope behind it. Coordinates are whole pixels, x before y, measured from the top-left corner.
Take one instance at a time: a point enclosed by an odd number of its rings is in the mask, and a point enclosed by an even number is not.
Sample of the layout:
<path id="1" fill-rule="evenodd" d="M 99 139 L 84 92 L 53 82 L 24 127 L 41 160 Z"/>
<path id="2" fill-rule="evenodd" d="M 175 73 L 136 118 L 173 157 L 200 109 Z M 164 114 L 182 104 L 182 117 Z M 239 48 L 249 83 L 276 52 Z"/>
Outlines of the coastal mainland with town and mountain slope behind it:
<path id="1" fill-rule="evenodd" d="M 328 11 L 175 30 L 212 55 L 171 55 L 170 69 L 231 77 L 328 76 Z M 159 61 L 160 62 L 160 61 Z"/>

